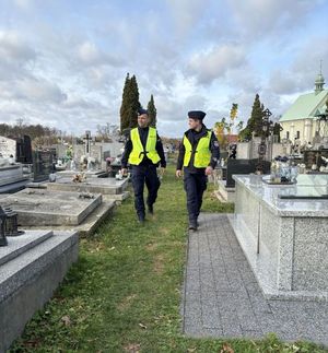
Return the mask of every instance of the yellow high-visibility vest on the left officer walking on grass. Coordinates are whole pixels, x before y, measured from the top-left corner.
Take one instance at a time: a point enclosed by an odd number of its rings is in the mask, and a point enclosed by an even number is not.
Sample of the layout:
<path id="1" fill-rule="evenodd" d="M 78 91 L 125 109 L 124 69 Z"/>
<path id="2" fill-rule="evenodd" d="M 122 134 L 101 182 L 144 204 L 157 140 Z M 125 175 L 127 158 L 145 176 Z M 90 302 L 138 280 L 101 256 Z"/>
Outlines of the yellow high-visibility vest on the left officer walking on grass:
<path id="1" fill-rule="evenodd" d="M 156 129 L 149 128 L 148 138 L 145 143 L 145 150 L 140 140 L 138 128 L 134 128 L 130 131 L 130 139 L 132 141 L 132 151 L 129 155 L 129 163 L 133 165 L 139 165 L 143 160 L 144 155 L 150 158 L 153 164 L 156 164 L 161 161 L 161 157 L 156 151 L 156 141 L 157 133 Z"/>

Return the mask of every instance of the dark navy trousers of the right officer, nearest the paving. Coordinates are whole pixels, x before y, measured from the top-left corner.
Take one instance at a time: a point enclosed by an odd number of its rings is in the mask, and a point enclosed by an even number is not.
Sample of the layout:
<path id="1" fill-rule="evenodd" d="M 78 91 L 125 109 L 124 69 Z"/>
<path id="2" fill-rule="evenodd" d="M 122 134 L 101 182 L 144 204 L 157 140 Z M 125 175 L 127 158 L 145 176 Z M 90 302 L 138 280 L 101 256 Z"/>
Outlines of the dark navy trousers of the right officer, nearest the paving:
<path id="1" fill-rule="evenodd" d="M 189 214 L 189 222 L 196 222 L 199 216 L 202 195 L 207 189 L 208 177 L 200 173 L 190 173 L 185 168 L 184 184 L 187 193 L 187 210 Z"/>

